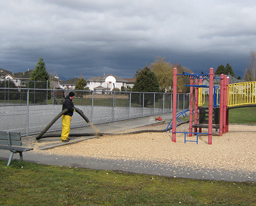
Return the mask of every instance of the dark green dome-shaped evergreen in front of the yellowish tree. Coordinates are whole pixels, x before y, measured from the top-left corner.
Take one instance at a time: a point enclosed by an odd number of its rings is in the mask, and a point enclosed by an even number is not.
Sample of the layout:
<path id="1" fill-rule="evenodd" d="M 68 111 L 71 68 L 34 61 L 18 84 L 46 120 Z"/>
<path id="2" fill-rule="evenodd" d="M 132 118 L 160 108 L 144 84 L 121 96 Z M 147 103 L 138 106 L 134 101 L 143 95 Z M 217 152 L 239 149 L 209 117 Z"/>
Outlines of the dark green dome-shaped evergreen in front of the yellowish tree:
<path id="1" fill-rule="evenodd" d="M 133 92 L 160 92 L 160 85 L 157 76 L 146 65 L 137 75 L 134 82 Z"/>

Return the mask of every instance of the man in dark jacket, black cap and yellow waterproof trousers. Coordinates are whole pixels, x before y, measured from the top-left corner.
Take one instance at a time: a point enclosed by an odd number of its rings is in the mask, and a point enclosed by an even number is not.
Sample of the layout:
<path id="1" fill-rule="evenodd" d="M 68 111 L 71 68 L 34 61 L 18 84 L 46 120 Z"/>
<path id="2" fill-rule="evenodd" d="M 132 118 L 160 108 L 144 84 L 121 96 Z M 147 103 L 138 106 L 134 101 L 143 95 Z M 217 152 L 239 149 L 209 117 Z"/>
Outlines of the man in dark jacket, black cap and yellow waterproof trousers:
<path id="1" fill-rule="evenodd" d="M 62 136 L 61 136 L 62 142 L 69 142 L 68 135 L 70 132 L 71 117 L 73 115 L 73 112 L 76 111 L 73 109 L 74 107 L 74 104 L 72 101 L 73 98 L 74 98 L 74 93 L 69 92 L 62 106 L 62 111 L 65 109 L 68 109 L 68 112 L 62 115 Z"/>

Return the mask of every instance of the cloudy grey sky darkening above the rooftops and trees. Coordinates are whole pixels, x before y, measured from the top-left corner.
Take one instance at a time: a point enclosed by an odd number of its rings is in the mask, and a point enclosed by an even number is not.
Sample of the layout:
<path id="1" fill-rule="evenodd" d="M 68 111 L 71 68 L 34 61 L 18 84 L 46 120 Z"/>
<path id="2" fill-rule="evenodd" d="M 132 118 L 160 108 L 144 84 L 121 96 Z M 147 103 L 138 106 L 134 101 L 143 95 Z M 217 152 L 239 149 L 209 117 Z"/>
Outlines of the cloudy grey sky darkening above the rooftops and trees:
<path id="1" fill-rule="evenodd" d="M 243 78 L 256 50 L 256 3 L 240 0 L 2 0 L 0 67 L 63 80 L 132 78 L 165 57 L 195 73 L 229 63 Z"/>

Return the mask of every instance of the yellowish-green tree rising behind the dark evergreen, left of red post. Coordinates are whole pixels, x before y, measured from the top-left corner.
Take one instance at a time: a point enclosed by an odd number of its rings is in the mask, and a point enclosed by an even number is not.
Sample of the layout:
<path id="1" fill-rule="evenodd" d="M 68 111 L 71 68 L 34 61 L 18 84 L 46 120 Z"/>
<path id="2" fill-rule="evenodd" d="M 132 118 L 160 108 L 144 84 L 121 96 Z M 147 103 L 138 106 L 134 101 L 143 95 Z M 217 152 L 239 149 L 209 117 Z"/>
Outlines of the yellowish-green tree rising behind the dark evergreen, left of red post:
<path id="1" fill-rule="evenodd" d="M 156 74 L 162 92 L 170 91 L 173 84 L 173 67 L 170 62 L 165 62 L 165 58 L 157 57 L 150 64 L 151 70 Z"/>

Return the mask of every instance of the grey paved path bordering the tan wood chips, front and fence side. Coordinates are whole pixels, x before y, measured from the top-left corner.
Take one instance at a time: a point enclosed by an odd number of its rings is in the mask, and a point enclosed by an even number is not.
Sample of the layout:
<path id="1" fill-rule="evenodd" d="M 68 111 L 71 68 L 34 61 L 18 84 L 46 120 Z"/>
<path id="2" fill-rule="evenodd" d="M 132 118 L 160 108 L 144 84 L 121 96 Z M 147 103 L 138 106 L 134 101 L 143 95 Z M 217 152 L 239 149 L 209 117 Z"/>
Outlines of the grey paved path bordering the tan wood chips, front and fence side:
<path id="1" fill-rule="evenodd" d="M 170 119 L 171 114 L 161 115 L 164 119 Z M 135 127 L 145 126 L 154 124 L 154 116 L 143 117 L 138 119 L 131 119 L 126 121 L 119 121 L 114 123 L 107 123 L 97 125 L 97 129 L 100 128 L 100 132 L 114 133 Z M 84 133 L 93 132 L 91 127 L 73 129 L 71 133 Z M 59 132 L 58 132 L 59 133 Z M 34 136 L 35 137 L 35 136 Z M 26 137 L 24 138 L 25 145 L 35 143 L 35 138 Z M 93 136 L 85 138 L 74 138 L 70 144 L 74 144 L 79 141 L 84 141 L 86 138 L 94 138 Z M 58 138 L 59 139 L 59 138 Z M 42 149 L 51 148 L 67 143 L 51 143 L 54 138 L 49 141 L 49 144 Z M 0 158 L 7 159 L 9 157 L 9 151 L 0 150 Z M 217 169 L 194 169 L 183 166 L 175 166 L 171 162 L 150 162 L 150 161 L 133 161 L 133 160 L 106 160 L 98 158 L 84 158 L 84 157 L 72 157 L 72 156 L 56 156 L 56 155 L 43 155 L 33 151 L 24 152 L 24 161 L 57 165 L 57 166 L 68 166 L 68 167 L 80 167 L 80 168 L 91 168 L 91 169 L 106 169 L 106 170 L 120 170 L 130 173 L 148 174 L 148 175 L 159 175 L 167 177 L 177 178 L 192 178 L 192 179 L 208 179 L 208 180 L 225 180 L 225 181 L 251 181 L 256 182 L 256 173 L 245 173 L 243 171 L 228 171 L 228 170 L 217 170 Z M 14 159 L 19 159 L 19 155 L 14 155 Z"/>

